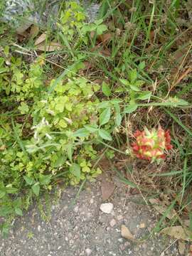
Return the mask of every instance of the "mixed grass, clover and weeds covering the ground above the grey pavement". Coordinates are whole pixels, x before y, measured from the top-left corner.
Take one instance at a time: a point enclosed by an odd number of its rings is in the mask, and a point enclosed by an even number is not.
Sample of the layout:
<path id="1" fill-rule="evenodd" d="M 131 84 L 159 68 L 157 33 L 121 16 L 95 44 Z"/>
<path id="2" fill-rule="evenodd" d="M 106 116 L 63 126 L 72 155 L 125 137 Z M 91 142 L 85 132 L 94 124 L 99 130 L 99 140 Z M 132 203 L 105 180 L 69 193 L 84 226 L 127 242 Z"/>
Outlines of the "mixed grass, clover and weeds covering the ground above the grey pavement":
<path id="1" fill-rule="evenodd" d="M 95 181 L 103 159 L 146 201 L 158 198 L 155 231 L 170 216 L 191 230 L 191 1 L 100 4 L 92 23 L 75 1 L 54 26 L 18 34 L 1 23 L 4 234 L 41 195 Z"/>

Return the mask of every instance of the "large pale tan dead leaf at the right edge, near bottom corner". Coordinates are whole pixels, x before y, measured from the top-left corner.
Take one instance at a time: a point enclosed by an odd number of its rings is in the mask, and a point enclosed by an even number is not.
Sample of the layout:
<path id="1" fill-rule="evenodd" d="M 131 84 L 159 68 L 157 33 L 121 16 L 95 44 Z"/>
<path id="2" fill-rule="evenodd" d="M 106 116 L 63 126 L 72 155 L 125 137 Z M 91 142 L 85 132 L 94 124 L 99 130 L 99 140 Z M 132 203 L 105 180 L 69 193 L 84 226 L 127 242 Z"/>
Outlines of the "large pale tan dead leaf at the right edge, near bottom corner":
<path id="1" fill-rule="evenodd" d="M 190 237 L 192 235 L 189 231 L 184 230 L 182 226 L 167 227 L 161 230 L 161 233 L 163 233 L 164 235 L 170 235 L 172 238 L 185 241 L 190 240 Z"/>

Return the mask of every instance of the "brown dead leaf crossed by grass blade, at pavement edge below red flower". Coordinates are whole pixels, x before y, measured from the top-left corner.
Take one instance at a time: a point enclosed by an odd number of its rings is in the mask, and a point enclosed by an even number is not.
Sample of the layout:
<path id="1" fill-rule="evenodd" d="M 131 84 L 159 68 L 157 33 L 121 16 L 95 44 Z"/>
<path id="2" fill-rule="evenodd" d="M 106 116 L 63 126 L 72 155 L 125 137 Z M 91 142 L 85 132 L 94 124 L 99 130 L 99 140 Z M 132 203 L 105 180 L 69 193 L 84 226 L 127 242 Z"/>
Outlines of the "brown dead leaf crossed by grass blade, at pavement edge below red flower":
<path id="1" fill-rule="evenodd" d="M 150 198 L 149 202 L 153 205 L 153 207 L 161 214 L 164 215 L 166 212 L 168 206 L 166 206 L 163 202 L 161 202 L 157 198 Z M 166 218 L 169 218 L 169 220 L 172 220 L 174 217 L 176 217 L 177 213 L 176 210 L 173 208 L 169 211 L 169 213 L 166 213 Z"/>

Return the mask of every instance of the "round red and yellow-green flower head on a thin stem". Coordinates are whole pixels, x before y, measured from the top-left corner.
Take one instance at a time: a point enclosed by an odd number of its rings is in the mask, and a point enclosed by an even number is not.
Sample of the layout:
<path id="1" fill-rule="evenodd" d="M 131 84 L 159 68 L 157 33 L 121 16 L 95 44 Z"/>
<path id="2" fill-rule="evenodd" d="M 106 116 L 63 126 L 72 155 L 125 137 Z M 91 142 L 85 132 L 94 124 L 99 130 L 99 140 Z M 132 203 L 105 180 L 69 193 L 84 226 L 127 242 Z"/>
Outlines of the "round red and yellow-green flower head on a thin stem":
<path id="1" fill-rule="evenodd" d="M 139 159 L 156 161 L 157 159 L 165 159 L 165 151 L 172 149 L 171 136 L 169 131 L 159 129 L 144 129 L 134 133 L 136 142 L 132 144 L 132 151 Z"/>

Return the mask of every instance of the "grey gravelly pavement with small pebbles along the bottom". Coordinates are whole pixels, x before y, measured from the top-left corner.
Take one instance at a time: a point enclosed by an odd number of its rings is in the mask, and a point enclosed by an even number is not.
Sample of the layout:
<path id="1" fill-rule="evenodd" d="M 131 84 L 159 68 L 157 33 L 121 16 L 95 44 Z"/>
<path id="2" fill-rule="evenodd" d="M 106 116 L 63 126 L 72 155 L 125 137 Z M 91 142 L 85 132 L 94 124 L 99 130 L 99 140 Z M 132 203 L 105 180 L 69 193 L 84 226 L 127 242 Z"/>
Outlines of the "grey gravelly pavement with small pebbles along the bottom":
<path id="1" fill-rule="evenodd" d="M 164 256 L 179 255 L 174 240 L 156 235 L 143 242 L 121 236 L 124 224 L 134 238 L 146 238 L 156 223 L 156 213 L 141 204 L 139 196 L 130 196 L 119 184 L 107 202 L 114 205 L 103 213 L 100 181 L 87 184 L 74 204 L 77 188 L 67 188 L 57 205 L 51 207 L 46 223 L 34 207 L 16 220 L 7 239 L 0 240 L 1 256 Z"/>

